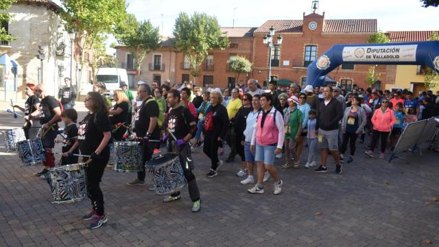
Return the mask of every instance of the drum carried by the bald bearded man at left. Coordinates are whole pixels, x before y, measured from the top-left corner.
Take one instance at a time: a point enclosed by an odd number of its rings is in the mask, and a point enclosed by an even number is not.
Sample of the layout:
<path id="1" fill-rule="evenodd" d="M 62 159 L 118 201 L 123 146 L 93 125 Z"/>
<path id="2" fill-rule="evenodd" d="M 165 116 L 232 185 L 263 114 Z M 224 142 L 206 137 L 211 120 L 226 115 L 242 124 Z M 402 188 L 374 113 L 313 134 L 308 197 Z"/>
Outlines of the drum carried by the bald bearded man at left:
<path id="1" fill-rule="evenodd" d="M 19 141 L 15 144 L 21 165 L 36 165 L 46 161 L 43 142 L 40 138 Z"/>

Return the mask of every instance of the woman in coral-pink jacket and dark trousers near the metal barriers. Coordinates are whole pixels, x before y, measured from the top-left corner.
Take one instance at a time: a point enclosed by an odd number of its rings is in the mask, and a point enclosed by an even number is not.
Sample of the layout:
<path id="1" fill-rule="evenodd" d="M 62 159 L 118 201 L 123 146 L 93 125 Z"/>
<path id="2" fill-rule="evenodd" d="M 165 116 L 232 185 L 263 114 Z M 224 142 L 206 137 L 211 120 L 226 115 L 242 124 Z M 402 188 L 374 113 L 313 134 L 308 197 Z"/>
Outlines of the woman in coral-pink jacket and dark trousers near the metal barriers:
<path id="1" fill-rule="evenodd" d="M 373 150 L 375 150 L 375 146 L 381 136 L 381 154 L 379 154 L 379 158 L 384 158 L 387 137 L 395 124 L 395 114 L 393 110 L 388 107 L 388 104 L 389 100 L 383 99 L 381 102 L 381 108 L 375 110 L 375 113 L 372 116 L 372 143 L 370 144 L 370 150 L 366 151 L 366 154 L 370 157 L 373 157 Z"/>

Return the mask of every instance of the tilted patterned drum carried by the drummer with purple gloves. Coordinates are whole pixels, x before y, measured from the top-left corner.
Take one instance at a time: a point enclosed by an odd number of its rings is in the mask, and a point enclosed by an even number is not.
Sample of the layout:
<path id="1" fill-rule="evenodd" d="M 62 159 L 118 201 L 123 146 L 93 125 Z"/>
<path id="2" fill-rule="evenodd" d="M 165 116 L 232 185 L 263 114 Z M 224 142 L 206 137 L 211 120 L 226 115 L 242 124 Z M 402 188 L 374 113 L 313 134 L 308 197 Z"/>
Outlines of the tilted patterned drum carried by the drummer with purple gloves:
<path id="1" fill-rule="evenodd" d="M 157 195 L 180 191 L 186 184 L 180 159 L 176 154 L 156 156 L 147 161 L 146 169 Z"/>

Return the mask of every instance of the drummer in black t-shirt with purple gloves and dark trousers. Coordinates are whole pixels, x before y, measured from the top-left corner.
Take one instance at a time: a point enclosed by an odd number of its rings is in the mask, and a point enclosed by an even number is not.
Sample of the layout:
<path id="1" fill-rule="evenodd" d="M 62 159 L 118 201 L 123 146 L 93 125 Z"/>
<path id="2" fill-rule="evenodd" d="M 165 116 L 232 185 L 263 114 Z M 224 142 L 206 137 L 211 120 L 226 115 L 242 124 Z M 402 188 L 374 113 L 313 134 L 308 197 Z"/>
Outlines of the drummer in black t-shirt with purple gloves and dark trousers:
<path id="1" fill-rule="evenodd" d="M 180 105 L 180 92 L 176 89 L 171 89 L 167 93 L 167 103 L 171 106 L 169 110 L 168 130 L 176 140 L 178 148 L 178 158 L 183 169 L 183 174 L 187 180 L 187 187 L 189 189 L 189 196 L 193 202 L 192 212 L 200 211 L 200 191 L 198 190 L 197 181 L 192 173 L 193 162 L 191 157 L 191 148 L 188 143 L 192 137 L 195 137 L 197 132 L 197 123 L 193 118 L 191 112 Z M 167 137 L 165 137 L 167 139 Z M 180 191 L 172 193 L 163 199 L 163 202 L 171 202 L 180 199 Z"/>

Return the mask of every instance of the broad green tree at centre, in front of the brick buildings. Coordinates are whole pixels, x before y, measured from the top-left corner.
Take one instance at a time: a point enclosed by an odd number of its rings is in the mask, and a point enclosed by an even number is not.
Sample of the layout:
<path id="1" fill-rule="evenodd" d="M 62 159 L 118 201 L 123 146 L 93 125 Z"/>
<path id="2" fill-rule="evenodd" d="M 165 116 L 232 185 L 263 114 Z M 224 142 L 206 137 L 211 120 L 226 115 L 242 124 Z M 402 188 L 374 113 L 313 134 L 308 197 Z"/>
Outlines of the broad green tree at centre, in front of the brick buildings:
<path id="1" fill-rule="evenodd" d="M 222 36 L 215 16 L 195 12 L 190 18 L 180 12 L 174 25 L 176 52 L 185 54 L 189 60 L 190 73 L 196 78 L 200 75 L 200 65 L 211 49 L 222 49 L 230 45 L 228 38 Z"/>

